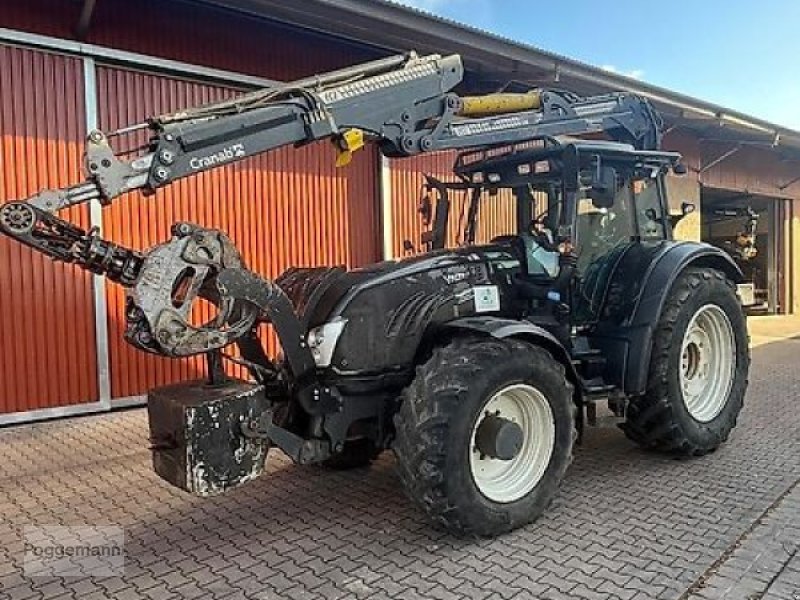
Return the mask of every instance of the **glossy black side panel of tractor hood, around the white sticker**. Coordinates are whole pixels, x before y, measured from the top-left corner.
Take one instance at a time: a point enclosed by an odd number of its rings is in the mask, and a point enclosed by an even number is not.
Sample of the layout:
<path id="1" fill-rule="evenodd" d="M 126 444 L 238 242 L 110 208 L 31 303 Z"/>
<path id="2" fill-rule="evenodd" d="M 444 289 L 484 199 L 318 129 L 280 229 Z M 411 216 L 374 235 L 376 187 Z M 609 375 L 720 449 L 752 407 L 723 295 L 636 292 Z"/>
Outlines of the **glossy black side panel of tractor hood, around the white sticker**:
<path id="1" fill-rule="evenodd" d="M 521 316 L 510 289 L 519 260 L 508 247 L 438 251 L 357 271 L 363 280 L 331 317 L 347 319 L 332 367 L 339 374 L 409 370 L 432 328 L 476 314 Z M 499 310 L 478 313 L 475 286 L 497 286 Z"/>

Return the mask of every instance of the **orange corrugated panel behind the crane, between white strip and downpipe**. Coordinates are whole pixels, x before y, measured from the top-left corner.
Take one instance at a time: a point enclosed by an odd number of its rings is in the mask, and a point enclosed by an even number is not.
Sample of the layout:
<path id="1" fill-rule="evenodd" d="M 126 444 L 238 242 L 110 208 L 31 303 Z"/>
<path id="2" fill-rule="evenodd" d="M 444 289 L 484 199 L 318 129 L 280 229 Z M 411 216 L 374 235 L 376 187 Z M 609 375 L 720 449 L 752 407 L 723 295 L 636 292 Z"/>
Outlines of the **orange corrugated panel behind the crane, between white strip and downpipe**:
<path id="1" fill-rule="evenodd" d="M 112 130 L 148 115 L 218 99 L 220 87 L 102 67 L 100 125 Z M 373 149 L 335 169 L 326 143 L 281 149 L 216 169 L 159 191 L 120 199 L 104 213 L 106 237 L 134 248 L 165 240 L 173 222 L 226 231 L 256 272 L 275 277 L 288 266 L 363 265 L 378 258 Z M 112 396 L 197 376 L 202 361 L 145 355 L 122 340 L 123 292 L 109 286 Z"/>

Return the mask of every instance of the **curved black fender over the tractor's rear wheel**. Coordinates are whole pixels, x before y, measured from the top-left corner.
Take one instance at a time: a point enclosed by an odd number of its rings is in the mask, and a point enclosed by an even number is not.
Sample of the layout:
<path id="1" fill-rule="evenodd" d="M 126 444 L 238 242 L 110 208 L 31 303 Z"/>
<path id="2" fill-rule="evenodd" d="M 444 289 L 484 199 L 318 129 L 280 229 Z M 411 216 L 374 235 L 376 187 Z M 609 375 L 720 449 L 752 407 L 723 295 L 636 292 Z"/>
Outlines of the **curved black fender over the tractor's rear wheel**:
<path id="1" fill-rule="evenodd" d="M 646 271 L 642 292 L 633 304 L 627 323 L 621 328 L 627 338 L 628 360 L 625 361 L 623 389 L 628 394 L 643 394 L 647 389 L 653 335 L 661 311 L 675 280 L 689 267 L 716 269 L 734 283 L 744 280 L 733 258 L 715 246 L 700 242 L 677 242 L 667 246 Z"/>

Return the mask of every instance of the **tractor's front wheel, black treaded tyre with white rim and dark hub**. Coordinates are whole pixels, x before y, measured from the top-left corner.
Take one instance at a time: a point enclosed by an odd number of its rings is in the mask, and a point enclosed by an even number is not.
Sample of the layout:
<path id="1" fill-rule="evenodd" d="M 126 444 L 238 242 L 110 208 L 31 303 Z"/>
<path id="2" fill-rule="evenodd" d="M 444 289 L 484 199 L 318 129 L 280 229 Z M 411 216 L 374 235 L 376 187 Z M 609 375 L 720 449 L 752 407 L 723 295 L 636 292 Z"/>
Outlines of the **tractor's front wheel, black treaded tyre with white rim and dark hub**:
<path id="1" fill-rule="evenodd" d="M 571 461 L 574 411 L 564 367 L 542 348 L 456 338 L 418 367 L 395 416 L 406 491 L 456 534 L 530 523 Z"/>

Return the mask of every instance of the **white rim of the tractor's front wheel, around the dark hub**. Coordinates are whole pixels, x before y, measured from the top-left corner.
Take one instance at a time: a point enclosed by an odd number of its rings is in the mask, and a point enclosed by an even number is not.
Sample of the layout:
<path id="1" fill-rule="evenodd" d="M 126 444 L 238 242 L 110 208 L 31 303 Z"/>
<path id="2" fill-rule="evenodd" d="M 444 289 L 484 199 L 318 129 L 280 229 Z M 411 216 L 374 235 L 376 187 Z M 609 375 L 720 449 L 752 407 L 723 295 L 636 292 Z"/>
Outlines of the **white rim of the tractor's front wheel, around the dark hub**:
<path id="1" fill-rule="evenodd" d="M 484 456 L 477 448 L 478 427 L 490 414 L 513 421 L 522 429 L 522 446 L 511 460 Z M 510 385 L 497 392 L 483 406 L 472 427 L 470 470 L 480 493 L 502 503 L 528 494 L 550 464 L 555 439 L 555 419 L 544 394 L 526 384 Z"/>

